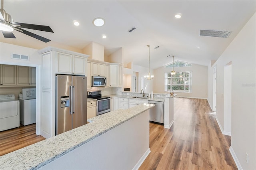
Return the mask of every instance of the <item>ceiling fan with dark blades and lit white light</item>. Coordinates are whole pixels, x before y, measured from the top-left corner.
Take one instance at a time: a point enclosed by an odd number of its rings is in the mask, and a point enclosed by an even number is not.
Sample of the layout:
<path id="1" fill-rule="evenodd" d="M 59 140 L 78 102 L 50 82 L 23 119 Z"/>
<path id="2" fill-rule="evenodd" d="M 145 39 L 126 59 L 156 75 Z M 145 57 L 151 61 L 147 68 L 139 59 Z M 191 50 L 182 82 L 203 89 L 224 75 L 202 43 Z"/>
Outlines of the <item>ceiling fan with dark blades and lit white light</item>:
<path id="1" fill-rule="evenodd" d="M 13 22 L 12 16 L 5 12 L 4 10 L 4 0 L 1 0 L 1 9 L 0 9 L 0 30 L 2 31 L 4 38 L 16 38 L 12 33 L 13 30 L 36 38 L 42 42 L 49 42 L 51 40 L 44 38 L 42 36 L 38 36 L 32 32 L 28 32 L 23 30 L 22 28 L 28 28 L 32 30 L 39 30 L 45 32 L 53 32 L 50 26 L 41 26 L 41 25 L 34 25 L 34 24 L 25 24 L 20 22 Z"/>

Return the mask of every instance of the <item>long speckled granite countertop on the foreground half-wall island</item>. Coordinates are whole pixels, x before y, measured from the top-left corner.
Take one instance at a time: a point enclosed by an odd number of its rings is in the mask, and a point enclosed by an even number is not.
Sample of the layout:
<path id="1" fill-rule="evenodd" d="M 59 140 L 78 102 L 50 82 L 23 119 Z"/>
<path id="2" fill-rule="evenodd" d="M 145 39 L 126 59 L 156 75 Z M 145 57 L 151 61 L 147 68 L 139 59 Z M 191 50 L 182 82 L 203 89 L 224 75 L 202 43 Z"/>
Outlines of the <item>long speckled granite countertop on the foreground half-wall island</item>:
<path id="1" fill-rule="evenodd" d="M 112 128 L 140 115 L 151 107 L 154 107 L 154 105 L 141 104 L 130 109 L 118 109 L 94 117 L 90 119 L 91 123 L 87 125 L 0 156 L 0 169 L 38 169 Z"/>

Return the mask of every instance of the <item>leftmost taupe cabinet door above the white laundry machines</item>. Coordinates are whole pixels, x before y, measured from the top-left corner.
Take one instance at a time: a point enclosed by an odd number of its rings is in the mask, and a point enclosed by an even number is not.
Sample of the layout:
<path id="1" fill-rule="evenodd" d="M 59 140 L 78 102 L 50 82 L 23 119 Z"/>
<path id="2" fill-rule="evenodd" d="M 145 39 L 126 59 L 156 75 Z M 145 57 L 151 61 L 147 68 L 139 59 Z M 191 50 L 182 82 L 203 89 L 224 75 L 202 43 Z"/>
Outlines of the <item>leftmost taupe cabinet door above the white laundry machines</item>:
<path id="1" fill-rule="evenodd" d="M 1 65 L 1 86 L 16 85 L 16 65 Z"/>

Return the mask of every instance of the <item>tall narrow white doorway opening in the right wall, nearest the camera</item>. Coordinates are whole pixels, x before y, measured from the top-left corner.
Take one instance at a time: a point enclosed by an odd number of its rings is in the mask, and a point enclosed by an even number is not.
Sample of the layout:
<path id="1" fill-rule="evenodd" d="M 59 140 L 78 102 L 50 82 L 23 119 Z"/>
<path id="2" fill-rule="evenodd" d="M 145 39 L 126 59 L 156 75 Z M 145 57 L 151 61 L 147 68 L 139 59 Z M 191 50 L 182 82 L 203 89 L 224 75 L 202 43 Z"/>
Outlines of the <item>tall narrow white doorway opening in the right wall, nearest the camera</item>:
<path id="1" fill-rule="evenodd" d="M 224 66 L 224 130 L 223 134 L 231 136 L 231 101 L 232 101 L 232 63 Z"/>

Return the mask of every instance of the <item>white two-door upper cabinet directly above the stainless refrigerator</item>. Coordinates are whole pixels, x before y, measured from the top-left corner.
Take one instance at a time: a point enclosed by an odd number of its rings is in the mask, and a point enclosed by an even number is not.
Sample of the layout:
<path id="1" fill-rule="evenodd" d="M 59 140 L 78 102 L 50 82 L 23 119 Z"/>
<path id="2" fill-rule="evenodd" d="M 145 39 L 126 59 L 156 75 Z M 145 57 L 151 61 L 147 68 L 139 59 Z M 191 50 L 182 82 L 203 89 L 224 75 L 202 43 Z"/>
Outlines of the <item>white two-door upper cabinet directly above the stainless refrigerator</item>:
<path id="1" fill-rule="evenodd" d="M 86 58 L 57 52 L 57 73 L 85 75 Z"/>

